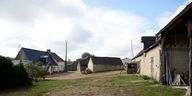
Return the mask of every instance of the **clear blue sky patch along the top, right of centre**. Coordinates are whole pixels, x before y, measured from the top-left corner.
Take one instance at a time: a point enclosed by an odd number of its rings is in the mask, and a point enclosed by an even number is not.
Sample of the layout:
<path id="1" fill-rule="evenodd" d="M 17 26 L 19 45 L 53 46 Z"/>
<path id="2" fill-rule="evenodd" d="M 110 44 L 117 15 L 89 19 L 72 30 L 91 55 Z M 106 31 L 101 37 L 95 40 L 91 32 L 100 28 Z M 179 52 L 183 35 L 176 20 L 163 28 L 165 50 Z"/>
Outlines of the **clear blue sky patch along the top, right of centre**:
<path id="1" fill-rule="evenodd" d="M 154 20 L 165 11 L 174 12 L 185 0 L 84 0 L 89 7 L 123 10 Z"/>

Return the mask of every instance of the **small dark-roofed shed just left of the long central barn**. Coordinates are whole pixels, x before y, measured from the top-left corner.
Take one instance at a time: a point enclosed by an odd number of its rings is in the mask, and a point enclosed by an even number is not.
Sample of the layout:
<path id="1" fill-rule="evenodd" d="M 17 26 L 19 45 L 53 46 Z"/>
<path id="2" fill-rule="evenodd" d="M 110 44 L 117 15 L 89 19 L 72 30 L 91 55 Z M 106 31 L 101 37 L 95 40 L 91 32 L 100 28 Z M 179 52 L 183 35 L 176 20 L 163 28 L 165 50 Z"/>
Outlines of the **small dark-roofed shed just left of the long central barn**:
<path id="1" fill-rule="evenodd" d="M 78 64 L 77 64 L 77 71 L 81 72 L 81 71 L 85 71 L 85 69 L 87 68 L 88 66 L 88 61 L 89 59 L 86 58 L 86 59 L 80 59 L 78 61 Z"/>

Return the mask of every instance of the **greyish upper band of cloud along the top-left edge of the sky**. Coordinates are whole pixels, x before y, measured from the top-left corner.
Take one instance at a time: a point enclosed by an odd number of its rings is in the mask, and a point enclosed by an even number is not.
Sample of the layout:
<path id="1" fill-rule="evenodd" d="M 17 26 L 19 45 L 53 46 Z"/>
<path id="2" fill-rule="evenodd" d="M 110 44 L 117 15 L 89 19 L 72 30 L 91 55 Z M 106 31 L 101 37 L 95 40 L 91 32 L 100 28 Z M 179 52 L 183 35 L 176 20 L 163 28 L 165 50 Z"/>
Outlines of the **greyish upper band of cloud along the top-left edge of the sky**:
<path id="1" fill-rule="evenodd" d="M 76 17 L 86 6 L 81 0 L 1 0 L 0 17 L 21 24 L 34 23 L 46 14 Z"/>

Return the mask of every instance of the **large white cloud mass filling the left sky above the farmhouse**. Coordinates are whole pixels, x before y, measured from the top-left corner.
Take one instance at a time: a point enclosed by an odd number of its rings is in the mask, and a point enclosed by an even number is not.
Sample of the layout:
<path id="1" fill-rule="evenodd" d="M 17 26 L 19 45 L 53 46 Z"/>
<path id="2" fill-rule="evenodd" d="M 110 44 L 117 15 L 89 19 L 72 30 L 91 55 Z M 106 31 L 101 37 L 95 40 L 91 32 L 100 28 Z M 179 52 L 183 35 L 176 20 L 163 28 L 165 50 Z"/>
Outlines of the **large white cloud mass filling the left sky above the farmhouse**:
<path id="1" fill-rule="evenodd" d="M 64 54 L 65 41 L 79 48 L 92 35 L 76 24 L 85 10 L 81 0 L 1 0 L 0 54 L 15 57 L 18 44 L 39 50 L 51 48 L 59 55 Z"/>

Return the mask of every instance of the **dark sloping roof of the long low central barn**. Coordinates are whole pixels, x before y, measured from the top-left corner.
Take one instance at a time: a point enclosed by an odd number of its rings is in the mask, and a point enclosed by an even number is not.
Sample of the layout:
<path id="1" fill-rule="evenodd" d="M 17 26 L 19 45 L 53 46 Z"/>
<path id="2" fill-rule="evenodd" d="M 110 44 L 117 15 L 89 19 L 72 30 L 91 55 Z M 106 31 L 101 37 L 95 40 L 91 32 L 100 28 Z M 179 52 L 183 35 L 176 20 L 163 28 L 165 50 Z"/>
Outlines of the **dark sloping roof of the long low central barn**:
<path id="1" fill-rule="evenodd" d="M 123 65 L 120 58 L 117 57 L 91 57 L 93 64 L 104 65 Z"/>

